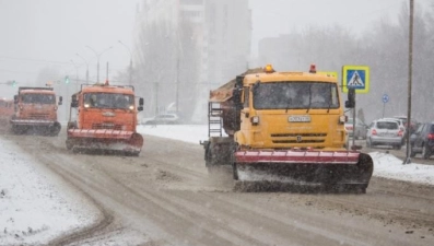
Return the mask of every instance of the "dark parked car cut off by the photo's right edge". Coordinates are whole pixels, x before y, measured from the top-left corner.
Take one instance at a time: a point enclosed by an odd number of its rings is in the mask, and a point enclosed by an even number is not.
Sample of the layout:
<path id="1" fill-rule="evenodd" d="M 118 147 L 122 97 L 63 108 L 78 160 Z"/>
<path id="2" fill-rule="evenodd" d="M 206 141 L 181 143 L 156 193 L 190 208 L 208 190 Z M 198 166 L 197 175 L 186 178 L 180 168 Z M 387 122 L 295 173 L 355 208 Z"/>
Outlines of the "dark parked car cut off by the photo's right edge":
<path id="1" fill-rule="evenodd" d="M 421 153 L 423 159 L 430 159 L 434 154 L 434 122 L 421 124 L 410 136 L 410 145 L 411 157 Z"/>

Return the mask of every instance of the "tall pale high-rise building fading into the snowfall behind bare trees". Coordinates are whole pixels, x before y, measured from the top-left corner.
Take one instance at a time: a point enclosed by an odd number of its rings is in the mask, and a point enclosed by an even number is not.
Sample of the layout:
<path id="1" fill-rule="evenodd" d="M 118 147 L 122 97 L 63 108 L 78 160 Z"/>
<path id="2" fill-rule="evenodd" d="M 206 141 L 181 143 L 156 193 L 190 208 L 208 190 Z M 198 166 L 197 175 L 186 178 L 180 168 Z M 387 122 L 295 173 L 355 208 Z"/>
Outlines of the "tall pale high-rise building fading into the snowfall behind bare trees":
<path id="1" fill-rule="evenodd" d="M 143 34 L 143 30 L 151 26 L 157 26 L 156 31 L 154 28 L 153 32 Z M 151 44 L 155 35 L 165 36 L 169 40 L 181 39 L 181 45 L 176 47 L 177 50 L 167 48 L 177 52 L 177 62 L 172 62 L 169 58 L 167 61 L 174 63 L 169 66 L 169 70 L 178 71 L 177 74 L 174 72 L 178 82 L 180 81 L 178 85 L 184 83 L 183 90 L 187 86 L 190 93 L 195 93 L 195 103 L 189 103 L 189 108 L 185 108 L 187 105 L 181 106 L 181 101 L 186 98 L 179 99 L 178 96 L 178 106 L 181 110 L 190 112 L 188 115 L 192 121 L 203 121 L 207 116 L 209 91 L 224 84 L 247 68 L 251 39 L 248 0 L 143 0 L 137 13 L 136 49 L 151 48 L 146 44 Z M 143 52 L 138 52 L 134 60 L 139 66 L 145 66 L 145 60 L 149 62 Z M 187 77 L 186 71 L 196 74 Z M 177 91 L 178 95 L 186 95 Z"/>

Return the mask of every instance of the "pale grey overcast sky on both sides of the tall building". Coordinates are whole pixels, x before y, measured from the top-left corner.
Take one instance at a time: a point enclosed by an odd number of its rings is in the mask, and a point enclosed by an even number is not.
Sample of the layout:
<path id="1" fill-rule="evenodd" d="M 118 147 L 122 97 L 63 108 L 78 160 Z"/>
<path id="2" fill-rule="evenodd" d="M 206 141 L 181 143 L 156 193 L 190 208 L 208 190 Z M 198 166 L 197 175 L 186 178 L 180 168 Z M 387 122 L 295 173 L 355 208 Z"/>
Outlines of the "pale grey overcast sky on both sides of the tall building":
<path id="1" fill-rule="evenodd" d="M 415 0 L 427 5 L 430 0 Z M 16 80 L 20 85 L 35 81 L 45 67 L 84 79 L 85 66 L 96 77 L 96 56 L 101 52 L 99 78 L 109 61 L 110 74 L 129 63 L 137 3 L 140 0 L 0 0 L 0 83 Z M 260 38 L 279 36 L 308 25 L 339 24 L 355 35 L 382 17 L 397 20 L 401 0 L 250 0 L 253 51 Z M 408 2 L 408 0 L 406 1 Z M 2 85 L 4 89 L 5 85 Z M 0 90 L 8 96 L 9 89 Z"/>

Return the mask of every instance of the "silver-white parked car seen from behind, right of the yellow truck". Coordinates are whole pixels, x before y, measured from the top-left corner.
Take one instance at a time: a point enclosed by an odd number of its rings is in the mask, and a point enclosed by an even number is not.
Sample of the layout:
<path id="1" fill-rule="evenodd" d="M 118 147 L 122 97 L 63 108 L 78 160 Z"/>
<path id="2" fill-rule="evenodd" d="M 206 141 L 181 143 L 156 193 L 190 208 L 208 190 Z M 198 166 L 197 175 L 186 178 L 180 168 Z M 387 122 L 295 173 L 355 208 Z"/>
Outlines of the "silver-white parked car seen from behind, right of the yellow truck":
<path id="1" fill-rule="evenodd" d="M 366 133 L 366 147 L 390 145 L 394 149 L 402 148 L 403 130 L 396 119 L 383 118 L 374 120 Z"/>

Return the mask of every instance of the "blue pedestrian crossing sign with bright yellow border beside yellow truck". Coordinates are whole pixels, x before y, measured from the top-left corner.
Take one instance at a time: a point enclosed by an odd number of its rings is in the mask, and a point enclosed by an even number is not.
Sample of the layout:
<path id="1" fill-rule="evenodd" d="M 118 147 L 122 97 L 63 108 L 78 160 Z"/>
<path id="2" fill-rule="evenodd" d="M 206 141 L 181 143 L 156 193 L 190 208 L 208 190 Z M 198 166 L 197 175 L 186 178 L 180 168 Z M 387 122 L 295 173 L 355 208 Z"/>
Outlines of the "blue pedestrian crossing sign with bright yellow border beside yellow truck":
<path id="1" fill-rule="evenodd" d="M 354 89 L 355 93 L 370 92 L 370 67 L 367 66 L 343 66 L 342 67 L 342 91 Z"/>

